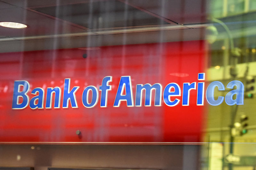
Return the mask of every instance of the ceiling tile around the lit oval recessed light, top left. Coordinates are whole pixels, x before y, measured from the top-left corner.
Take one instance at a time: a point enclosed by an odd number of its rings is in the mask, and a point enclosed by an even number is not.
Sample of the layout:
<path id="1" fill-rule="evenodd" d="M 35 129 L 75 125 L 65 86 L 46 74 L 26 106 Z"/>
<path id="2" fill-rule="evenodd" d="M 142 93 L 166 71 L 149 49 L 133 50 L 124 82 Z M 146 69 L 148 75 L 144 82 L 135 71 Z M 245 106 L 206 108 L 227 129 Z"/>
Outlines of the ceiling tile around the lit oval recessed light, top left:
<path id="1" fill-rule="evenodd" d="M 0 36 L 36 36 L 84 32 L 85 30 L 22 8 L 0 10 L 0 21 L 19 22 L 25 29 L 0 27 Z"/>

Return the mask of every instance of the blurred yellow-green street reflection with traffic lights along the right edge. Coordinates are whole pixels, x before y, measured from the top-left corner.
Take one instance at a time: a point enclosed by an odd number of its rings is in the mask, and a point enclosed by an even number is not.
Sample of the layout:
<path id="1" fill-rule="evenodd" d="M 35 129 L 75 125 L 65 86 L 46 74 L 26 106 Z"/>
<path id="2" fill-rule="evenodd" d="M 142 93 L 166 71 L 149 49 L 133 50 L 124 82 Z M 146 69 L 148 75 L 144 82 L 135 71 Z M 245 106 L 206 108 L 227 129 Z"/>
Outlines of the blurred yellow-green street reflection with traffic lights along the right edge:
<path id="1" fill-rule="evenodd" d="M 255 169 L 255 1 L 208 2 L 209 81 L 236 78 L 245 93 L 244 105 L 209 107 L 205 141 L 223 143 L 207 146 L 206 169 Z"/>

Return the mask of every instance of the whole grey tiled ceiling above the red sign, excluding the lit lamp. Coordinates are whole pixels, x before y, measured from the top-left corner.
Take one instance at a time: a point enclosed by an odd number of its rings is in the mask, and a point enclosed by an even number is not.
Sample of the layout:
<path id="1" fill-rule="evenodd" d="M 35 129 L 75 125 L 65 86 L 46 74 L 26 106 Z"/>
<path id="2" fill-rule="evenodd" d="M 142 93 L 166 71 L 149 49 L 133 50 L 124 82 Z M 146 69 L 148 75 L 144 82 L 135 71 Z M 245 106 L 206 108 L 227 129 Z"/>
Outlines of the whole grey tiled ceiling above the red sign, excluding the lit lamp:
<path id="1" fill-rule="evenodd" d="M 0 53 L 204 38 L 205 0 L 0 0 Z"/>

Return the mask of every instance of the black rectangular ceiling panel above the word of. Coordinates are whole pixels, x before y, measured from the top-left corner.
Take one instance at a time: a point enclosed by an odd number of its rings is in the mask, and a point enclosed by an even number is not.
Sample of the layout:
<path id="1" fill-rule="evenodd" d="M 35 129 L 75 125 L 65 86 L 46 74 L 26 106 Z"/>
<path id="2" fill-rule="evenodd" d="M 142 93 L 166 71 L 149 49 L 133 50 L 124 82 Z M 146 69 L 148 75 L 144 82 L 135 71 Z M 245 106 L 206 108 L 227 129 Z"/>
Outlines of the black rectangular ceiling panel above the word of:
<path id="1" fill-rule="evenodd" d="M 117 0 L 40 7 L 33 10 L 89 29 L 169 24 Z"/>

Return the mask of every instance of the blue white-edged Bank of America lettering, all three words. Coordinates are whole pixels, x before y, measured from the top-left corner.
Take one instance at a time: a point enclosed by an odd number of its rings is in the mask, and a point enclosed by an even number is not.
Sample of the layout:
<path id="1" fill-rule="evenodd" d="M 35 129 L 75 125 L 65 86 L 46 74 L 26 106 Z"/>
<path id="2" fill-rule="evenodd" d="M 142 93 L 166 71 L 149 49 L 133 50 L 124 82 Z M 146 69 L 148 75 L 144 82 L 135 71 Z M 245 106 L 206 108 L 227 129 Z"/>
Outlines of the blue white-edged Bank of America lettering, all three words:
<path id="1" fill-rule="evenodd" d="M 205 74 L 198 74 L 198 81 L 205 80 Z M 101 91 L 100 96 L 100 107 L 107 107 L 108 91 L 111 90 L 111 85 L 109 82 L 112 81 L 112 76 L 104 77 L 102 80 L 102 85 L 99 87 Z M 196 105 L 204 105 L 204 82 L 185 82 L 183 83 L 182 90 L 182 106 L 189 105 L 189 94 L 190 90 L 196 90 L 197 84 L 197 101 Z M 23 86 L 23 90 L 20 91 L 20 86 Z M 234 86 L 236 88 L 234 89 Z M 226 96 L 215 96 L 215 88 L 218 90 L 225 90 L 224 85 L 220 81 L 213 81 L 209 84 L 206 89 L 206 100 L 209 104 L 216 106 L 220 105 L 225 98 L 225 102 L 228 105 L 240 105 L 244 104 L 244 84 L 241 81 L 230 81 L 227 85 L 228 89 L 233 89 L 229 91 Z M 68 108 L 69 102 L 72 108 L 78 108 L 76 102 L 76 91 L 79 89 L 78 86 L 73 87 L 70 90 L 70 79 L 65 79 L 64 81 L 64 91 L 63 91 L 63 103 L 62 108 Z M 94 107 L 99 100 L 99 90 L 95 86 L 88 86 L 84 89 L 82 95 L 82 103 L 86 108 Z M 162 85 L 156 84 L 137 84 L 136 86 L 136 97 L 135 106 L 141 106 L 142 103 L 142 92 L 145 90 L 145 106 L 151 106 L 152 90 L 155 90 L 155 106 L 161 106 L 162 103 Z M 29 91 L 28 81 L 14 81 L 13 98 L 12 98 L 12 109 L 24 109 L 28 106 L 31 109 L 43 109 L 44 105 L 44 89 L 35 88 L 31 91 L 31 94 L 37 95 L 30 99 L 27 95 Z M 55 93 L 54 97 L 54 108 L 60 108 L 60 87 L 47 88 L 46 92 L 46 103 L 45 108 L 52 108 L 52 94 Z M 92 94 L 92 99 L 89 101 L 89 94 Z M 235 96 L 234 96 L 235 95 Z M 180 86 L 177 83 L 170 83 L 164 88 L 163 99 L 167 106 L 176 106 L 180 103 L 180 99 L 176 96 L 181 96 Z M 22 102 L 19 103 L 19 98 L 22 98 Z M 171 97 L 173 99 L 171 99 Z M 175 98 L 174 98 L 175 97 Z M 236 98 L 235 98 L 236 97 Z M 217 98 L 217 99 L 216 99 Z M 235 98 L 235 99 L 234 99 Z M 131 76 L 121 76 L 118 89 L 116 92 L 116 98 L 113 107 L 119 107 L 120 103 L 125 101 L 128 107 L 134 106 L 133 94 L 132 94 L 132 82 Z"/>

